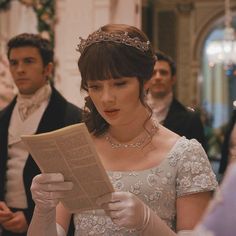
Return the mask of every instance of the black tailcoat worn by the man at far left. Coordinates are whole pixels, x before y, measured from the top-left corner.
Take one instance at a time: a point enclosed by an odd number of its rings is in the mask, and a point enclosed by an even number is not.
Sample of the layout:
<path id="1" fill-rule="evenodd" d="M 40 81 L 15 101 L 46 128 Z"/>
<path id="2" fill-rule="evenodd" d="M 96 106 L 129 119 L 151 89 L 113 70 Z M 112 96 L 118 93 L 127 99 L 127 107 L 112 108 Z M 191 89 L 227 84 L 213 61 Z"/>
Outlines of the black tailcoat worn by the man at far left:
<path id="1" fill-rule="evenodd" d="M 4 201 L 5 199 L 8 127 L 15 104 L 16 97 L 6 108 L 0 111 L 0 201 Z M 80 108 L 66 101 L 55 88 L 52 88 L 49 104 L 39 122 L 36 133 L 56 130 L 71 124 L 79 123 L 81 120 L 82 113 Z M 23 212 L 28 223 L 30 223 L 34 211 L 34 202 L 31 196 L 30 186 L 33 177 L 39 173 L 40 170 L 38 166 L 31 155 L 29 155 L 23 170 L 24 187 L 28 204 L 28 208 L 24 209 Z"/>

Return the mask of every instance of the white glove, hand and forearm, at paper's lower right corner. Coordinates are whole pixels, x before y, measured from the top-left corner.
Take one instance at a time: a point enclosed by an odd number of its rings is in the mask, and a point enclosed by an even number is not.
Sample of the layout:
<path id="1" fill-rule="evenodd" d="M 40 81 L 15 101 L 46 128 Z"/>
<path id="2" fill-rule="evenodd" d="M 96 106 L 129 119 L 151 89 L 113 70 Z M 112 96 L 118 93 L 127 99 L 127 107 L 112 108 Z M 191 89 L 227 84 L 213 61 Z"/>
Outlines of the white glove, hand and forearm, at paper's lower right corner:
<path id="1" fill-rule="evenodd" d="M 113 192 L 97 199 L 97 204 L 111 217 L 118 226 L 136 229 L 143 236 L 176 235 L 138 197 L 129 192 Z"/>

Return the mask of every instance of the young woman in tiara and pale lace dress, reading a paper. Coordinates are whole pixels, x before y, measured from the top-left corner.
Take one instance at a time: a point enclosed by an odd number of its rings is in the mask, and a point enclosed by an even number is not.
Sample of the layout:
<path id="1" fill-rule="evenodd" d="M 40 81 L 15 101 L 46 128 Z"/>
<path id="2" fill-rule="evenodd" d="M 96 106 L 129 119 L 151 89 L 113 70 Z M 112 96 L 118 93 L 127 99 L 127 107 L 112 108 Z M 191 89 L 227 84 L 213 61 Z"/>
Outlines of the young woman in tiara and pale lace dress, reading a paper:
<path id="1" fill-rule="evenodd" d="M 101 210 L 75 214 L 75 235 L 176 235 L 191 230 L 217 182 L 201 145 L 152 118 L 145 102 L 155 57 L 144 33 L 110 24 L 78 45 L 85 122 L 115 192 Z M 55 183 L 56 182 L 56 183 Z M 71 189 L 59 173 L 34 178 L 28 235 L 65 235 L 71 215 L 59 199 Z M 59 203 L 59 204 L 58 204 Z"/>

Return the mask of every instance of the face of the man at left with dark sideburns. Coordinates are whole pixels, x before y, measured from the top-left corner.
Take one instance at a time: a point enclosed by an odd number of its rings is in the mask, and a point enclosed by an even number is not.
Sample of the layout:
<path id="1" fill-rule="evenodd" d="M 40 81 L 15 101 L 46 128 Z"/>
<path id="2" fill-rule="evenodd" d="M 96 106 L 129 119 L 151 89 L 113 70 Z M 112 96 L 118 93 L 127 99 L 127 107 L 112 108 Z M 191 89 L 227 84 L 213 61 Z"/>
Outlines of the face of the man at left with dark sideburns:
<path id="1" fill-rule="evenodd" d="M 9 55 L 10 71 L 21 94 L 34 94 L 45 85 L 52 65 L 44 66 L 39 50 L 35 47 L 13 48 Z"/>

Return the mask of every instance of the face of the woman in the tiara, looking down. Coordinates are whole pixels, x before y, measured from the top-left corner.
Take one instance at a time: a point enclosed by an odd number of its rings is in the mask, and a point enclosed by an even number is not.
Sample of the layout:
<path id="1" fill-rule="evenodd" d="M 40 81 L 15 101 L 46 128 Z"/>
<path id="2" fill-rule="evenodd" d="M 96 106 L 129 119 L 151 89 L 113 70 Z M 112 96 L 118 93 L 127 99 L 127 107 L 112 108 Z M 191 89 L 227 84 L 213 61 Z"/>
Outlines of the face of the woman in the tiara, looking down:
<path id="1" fill-rule="evenodd" d="M 100 115 L 110 125 L 126 125 L 143 109 L 136 77 L 88 81 L 88 93 Z"/>

